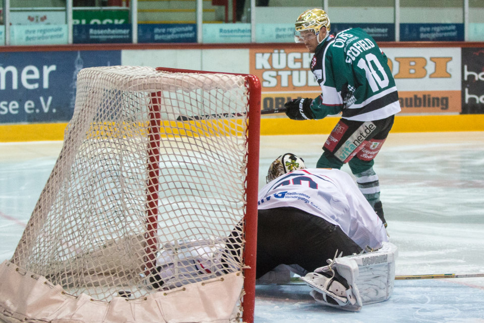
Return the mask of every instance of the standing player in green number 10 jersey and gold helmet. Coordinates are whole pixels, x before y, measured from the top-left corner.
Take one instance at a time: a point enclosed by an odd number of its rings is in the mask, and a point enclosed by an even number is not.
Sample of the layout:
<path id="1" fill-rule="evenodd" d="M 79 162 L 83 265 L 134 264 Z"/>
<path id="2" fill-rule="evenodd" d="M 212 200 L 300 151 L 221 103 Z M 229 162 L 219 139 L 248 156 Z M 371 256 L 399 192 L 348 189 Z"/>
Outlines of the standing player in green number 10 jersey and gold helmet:
<path id="1" fill-rule="evenodd" d="M 358 188 L 382 219 L 380 184 L 373 169 L 374 158 L 390 132 L 400 109 L 387 57 L 364 30 L 352 28 L 330 35 L 325 11 L 302 13 L 295 23 L 295 41 L 314 53 L 311 71 L 321 86 L 321 95 L 285 103 L 293 120 L 323 119 L 338 115 L 324 146 L 317 168 L 340 169 L 348 163 Z"/>

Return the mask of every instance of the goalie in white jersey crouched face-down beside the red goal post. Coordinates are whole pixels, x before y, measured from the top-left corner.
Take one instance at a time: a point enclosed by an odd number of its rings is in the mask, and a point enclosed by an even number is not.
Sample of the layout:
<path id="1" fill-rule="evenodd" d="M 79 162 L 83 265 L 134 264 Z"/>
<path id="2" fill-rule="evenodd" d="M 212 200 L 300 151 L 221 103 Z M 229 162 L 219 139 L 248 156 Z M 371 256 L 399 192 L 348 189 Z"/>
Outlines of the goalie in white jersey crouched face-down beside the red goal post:
<path id="1" fill-rule="evenodd" d="M 258 197 L 257 279 L 290 266 L 304 276 L 316 301 L 353 311 L 390 297 L 396 247 L 349 174 L 307 169 L 304 160 L 287 153 L 271 164 L 267 182 Z M 231 259 L 241 257 L 241 232 L 236 226 L 216 244 L 165 247 L 151 286 L 171 288 L 179 286 L 176 281 L 233 272 Z"/>

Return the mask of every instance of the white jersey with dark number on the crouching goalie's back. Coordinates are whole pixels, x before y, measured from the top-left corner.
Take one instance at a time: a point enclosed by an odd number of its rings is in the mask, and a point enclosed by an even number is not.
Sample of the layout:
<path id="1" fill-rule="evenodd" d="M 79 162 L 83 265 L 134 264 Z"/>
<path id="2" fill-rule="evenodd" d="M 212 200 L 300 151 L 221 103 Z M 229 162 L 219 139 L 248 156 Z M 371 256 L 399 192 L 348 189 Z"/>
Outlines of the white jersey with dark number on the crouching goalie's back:
<path id="1" fill-rule="evenodd" d="M 259 209 L 285 206 L 339 226 L 361 248 L 380 248 L 388 241 L 383 222 L 343 171 L 301 169 L 279 176 L 259 191 Z"/>

